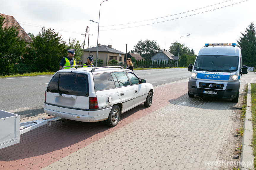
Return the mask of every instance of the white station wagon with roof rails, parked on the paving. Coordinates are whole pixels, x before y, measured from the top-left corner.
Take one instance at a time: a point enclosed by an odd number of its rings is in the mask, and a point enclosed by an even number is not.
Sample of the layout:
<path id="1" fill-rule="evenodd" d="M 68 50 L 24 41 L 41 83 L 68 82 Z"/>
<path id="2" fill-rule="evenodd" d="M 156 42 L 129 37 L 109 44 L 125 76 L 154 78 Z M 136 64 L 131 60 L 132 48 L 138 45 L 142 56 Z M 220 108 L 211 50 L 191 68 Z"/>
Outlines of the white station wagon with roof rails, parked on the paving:
<path id="1" fill-rule="evenodd" d="M 78 65 L 53 75 L 45 90 L 44 111 L 81 122 L 105 120 L 114 127 L 123 112 L 141 103 L 150 107 L 153 94 L 152 84 L 129 69 Z"/>

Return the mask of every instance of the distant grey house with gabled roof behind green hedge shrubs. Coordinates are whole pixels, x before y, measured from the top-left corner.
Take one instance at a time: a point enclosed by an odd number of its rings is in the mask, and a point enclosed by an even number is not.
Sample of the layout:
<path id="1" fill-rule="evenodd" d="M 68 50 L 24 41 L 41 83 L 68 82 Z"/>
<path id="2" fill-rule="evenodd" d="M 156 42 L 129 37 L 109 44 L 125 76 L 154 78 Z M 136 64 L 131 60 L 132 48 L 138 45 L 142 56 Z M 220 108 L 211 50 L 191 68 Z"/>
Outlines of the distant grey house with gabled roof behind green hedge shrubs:
<path id="1" fill-rule="evenodd" d="M 175 56 L 175 62 L 177 62 L 176 59 L 178 59 L 178 58 Z M 168 60 L 169 60 L 170 63 L 173 63 L 174 55 L 164 49 L 164 50 L 160 50 L 160 51 L 158 51 L 156 54 L 154 54 L 154 55 L 151 57 L 151 60 L 152 60 L 152 63 L 153 63 L 154 61 L 156 61 L 156 63 L 157 63 L 158 60 L 159 60 L 159 61 L 162 60 L 162 63 L 163 63 L 163 61 L 164 61 L 166 64 L 168 63 Z"/>

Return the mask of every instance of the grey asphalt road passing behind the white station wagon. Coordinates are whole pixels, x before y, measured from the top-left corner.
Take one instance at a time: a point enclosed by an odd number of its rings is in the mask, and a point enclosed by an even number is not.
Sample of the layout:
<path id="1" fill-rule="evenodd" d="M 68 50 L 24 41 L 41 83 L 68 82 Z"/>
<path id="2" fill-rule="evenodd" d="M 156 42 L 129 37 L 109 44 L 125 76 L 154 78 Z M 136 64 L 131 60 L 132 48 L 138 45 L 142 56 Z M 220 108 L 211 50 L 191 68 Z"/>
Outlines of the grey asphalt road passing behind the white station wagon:
<path id="1" fill-rule="evenodd" d="M 187 68 L 134 71 L 153 86 L 190 77 Z M 44 92 L 52 75 L 0 78 L 0 109 L 20 118 L 44 113 Z"/>

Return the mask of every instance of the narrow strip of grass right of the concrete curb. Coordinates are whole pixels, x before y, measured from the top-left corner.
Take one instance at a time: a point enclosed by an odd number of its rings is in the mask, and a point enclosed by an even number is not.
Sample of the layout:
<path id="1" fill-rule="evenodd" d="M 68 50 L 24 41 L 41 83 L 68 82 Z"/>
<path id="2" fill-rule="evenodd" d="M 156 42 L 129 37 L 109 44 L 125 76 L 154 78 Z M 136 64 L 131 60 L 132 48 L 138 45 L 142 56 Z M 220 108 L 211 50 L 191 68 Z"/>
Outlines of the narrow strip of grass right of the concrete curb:
<path id="1" fill-rule="evenodd" d="M 252 147 L 253 147 L 253 156 L 254 156 L 254 169 L 256 169 L 256 84 L 251 83 L 251 95 L 252 95 L 252 127 L 253 127 L 253 135 L 252 135 Z"/>

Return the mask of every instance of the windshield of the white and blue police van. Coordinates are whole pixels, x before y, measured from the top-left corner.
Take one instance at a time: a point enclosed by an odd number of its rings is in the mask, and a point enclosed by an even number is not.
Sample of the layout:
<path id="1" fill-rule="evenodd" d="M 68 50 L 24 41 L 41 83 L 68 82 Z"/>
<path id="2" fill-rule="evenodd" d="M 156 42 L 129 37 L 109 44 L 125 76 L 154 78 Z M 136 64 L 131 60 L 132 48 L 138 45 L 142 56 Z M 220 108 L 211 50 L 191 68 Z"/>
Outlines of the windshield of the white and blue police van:
<path id="1" fill-rule="evenodd" d="M 236 72 L 238 56 L 197 56 L 194 69 L 197 71 Z"/>

